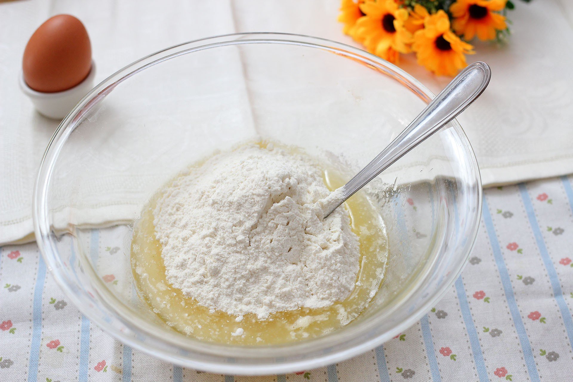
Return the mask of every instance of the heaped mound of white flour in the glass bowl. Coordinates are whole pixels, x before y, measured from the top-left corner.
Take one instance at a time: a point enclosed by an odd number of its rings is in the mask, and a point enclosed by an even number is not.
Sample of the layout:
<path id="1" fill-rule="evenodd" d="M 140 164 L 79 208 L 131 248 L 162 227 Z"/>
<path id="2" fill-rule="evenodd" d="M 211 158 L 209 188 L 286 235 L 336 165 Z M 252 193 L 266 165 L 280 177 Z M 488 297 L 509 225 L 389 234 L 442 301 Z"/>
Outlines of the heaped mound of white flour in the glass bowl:
<path id="1" fill-rule="evenodd" d="M 167 280 L 200 305 L 260 319 L 344 300 L 359 243 L 344 208 L 322 219 L 329 193 L 301 155 L 248 145 L 211 157 L 158 199 Z"/>

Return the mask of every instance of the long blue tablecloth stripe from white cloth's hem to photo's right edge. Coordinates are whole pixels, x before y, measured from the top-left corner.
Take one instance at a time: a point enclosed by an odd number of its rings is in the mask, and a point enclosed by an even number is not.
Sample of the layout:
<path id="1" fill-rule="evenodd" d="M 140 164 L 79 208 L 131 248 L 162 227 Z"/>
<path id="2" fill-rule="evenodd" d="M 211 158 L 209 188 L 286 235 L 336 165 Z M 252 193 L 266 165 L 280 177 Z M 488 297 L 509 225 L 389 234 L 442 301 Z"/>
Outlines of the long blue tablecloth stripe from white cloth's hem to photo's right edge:
<path id="1" fill-rule="evenodd" d="M 535 210 L 533 210 L 533 204 L 531 203 L 531 198 L 529 198 L 529 193 L 527 192 L 525 184 L 519 184 L 519 192 L 521 192 L 521 199 L 523 199 L 523 205 L 525 207 L 525 211 L 527 212 L 527 217 L 529 218 L 529 225 L 531 225 L 531 229 L 533 230 L 533 236 L 537 242 L 537 247 L 539 247 L 541 259 L 543 259 L 545 270 L 547 270 L 547 275 L 549 276 L 549 281 L 551 282 L 551 288 L 553 289 L 555 301 L 557 302 L 559 310 L 561 311 L 561 316 L 563 317 L 563 323 L 565 324 L 567 336 L 569 337 L 569 345 L 571 346 L 571 349 L 573 349 L 573 320 L 571 319 L 571 311 L 569 310 L 567 303 L 565 302 L 565 298 L 563 297 L 563 290 L 561 290 L 561 283 L 559 282 L 557 270 L 555 269 L 555 265 L 549 256 L 547 246 L 545 246 L 543 234 L 541 234 L 539 223 L 537 223 Z"/>

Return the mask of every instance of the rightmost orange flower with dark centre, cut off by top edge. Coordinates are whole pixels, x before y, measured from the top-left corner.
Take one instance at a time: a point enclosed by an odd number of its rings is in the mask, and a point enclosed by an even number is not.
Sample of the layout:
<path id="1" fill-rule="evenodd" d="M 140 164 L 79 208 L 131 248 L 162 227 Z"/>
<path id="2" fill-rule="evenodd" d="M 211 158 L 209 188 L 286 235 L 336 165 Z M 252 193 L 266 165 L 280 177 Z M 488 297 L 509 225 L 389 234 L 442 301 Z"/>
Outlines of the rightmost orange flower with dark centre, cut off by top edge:
<path id="1" fill-rule="evenodd" d="M 452 27 L 466 41 L 476 34 L 480 40 L 493 40 L 497 31 L 507 29 L 505 16 L 497 13 L 507 0 L 457 0 L 450 6 Z"/>

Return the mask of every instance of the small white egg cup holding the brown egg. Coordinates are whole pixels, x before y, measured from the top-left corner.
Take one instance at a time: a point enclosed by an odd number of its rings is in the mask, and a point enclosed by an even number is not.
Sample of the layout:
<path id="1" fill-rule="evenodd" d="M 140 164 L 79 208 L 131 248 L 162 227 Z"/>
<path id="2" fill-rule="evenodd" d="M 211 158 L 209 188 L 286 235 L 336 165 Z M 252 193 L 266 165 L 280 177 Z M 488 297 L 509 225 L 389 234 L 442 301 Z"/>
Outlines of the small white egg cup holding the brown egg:
<path id="1" fill-rule="evenodd" d="M 92 69 L 83 81 L 62 92 L 44 93 L 30 88 L 20 73 L 20 88 L 32 100 L 34 107 L 42 115 L 52 119 L 63 119 L 72 108 L 93 88 L 96 76 L 96 64 L 92 60 Z"/>

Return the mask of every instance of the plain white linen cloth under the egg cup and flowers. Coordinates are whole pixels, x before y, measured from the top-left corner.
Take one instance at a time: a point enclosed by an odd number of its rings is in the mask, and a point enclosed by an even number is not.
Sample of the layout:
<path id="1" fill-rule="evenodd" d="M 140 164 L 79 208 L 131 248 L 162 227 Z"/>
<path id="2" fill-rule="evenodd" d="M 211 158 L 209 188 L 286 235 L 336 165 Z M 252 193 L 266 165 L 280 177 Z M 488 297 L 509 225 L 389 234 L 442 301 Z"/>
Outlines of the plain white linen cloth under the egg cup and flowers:
<path id="1" fill-rule="evenodd" d="M 98 82 L 148 53 L 216 34 L 277 31 L 356 45 L 342 34 L 338 7 L 332 0 L 0 3 L 0 243 L 33 239 L 33 184 L 58 124 L 38 115 L 18 89 L 23 49 L 45 19 L 69 13 L 85 23 Z M 477 54 L 468 58 L 488 62 L 493 76 L 486 93 L 458 119 L 484 186 L 573 172 L 573 81 L 567 76 L 573 5 L 517 2 L 509 17 L 509 44 L 477 44 Z M 400 66 L 434 92 L 449 81 L 428 73 L 412 56 Z"/>

